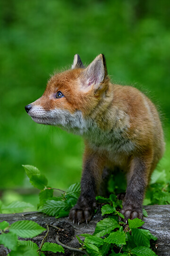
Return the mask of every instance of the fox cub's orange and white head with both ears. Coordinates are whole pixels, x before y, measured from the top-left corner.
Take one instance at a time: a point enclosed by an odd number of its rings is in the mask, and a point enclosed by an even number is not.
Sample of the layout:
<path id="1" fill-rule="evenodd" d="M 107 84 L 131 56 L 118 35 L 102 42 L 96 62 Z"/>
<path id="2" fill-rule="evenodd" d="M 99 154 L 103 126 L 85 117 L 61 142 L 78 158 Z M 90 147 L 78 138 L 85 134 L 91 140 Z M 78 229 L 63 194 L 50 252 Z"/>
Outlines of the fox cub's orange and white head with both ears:
<path id="1" fill-rule="evenodd" d="M 108 82 L 104 55 L 86 68 L 75 55 L 72 68 L 52 76 L 42 97 L 27 105 L 26 112 L 36 123 L 82 134 L 99 114 Z"/>

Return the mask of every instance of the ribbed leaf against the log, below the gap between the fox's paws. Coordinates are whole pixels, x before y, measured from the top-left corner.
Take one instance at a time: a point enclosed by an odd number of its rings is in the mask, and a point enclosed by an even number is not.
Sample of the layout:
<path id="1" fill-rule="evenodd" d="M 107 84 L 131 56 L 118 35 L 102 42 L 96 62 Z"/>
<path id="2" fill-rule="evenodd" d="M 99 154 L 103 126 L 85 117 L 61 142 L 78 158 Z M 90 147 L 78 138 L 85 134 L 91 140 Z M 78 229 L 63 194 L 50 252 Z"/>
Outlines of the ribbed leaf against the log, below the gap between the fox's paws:
<path id="1" fill-rule="evenodd" d="M 96 237 L 103 237 L 104 235 L 110 233 L 111 230 L 116 228 L 119 228 L 119 224 L 115 219 L 103 219 L 97 223 L 93 235 Z"/>

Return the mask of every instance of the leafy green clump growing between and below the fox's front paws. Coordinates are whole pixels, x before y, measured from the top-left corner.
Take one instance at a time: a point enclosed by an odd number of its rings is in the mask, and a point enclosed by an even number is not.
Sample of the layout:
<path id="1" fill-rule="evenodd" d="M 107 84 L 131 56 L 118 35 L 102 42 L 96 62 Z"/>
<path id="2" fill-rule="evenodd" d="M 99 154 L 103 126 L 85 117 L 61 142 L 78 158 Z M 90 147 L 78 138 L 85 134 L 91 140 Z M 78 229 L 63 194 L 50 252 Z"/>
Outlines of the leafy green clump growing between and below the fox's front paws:
<path id="1" fill-rule="evenodd" d="M 115 201 L 113 201 L 115 199 Z M 103 197 L 97 197 L 100 203 L 104 203 Z M 113 207 L 118 207 L 119 201 L 114 195 L 106 199 L 107 203 L 102 206 L 102 213 L 108 218 L 99 221 L 93 235 L 82 234 L 84 242 L 77 238 L 82 248 L 85 248 L 90 256 L 154 256 L 150 249 L 150 240 L 156 240 L 149 230 L 138 229 L 144 221 L 141 219 L 128 219 L 128 225 L 119 222 L 119 211 Z M 109 207 L 111 206 L 111 207 Z M 120 205 L 119 205 L 120 207 Z"/>

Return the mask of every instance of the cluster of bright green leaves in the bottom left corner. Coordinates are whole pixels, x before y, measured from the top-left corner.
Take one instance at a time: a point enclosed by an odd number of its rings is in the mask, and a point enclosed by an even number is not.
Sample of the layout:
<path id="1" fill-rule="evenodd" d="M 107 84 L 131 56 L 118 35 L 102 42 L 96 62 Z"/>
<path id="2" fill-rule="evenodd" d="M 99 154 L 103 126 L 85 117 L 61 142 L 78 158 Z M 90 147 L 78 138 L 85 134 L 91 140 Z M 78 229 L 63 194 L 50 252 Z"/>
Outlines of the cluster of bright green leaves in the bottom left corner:
<path id="1" fill-rule="evenodd" d="M 40 254 L 44 256 L 42 251 L 64 253 L 63 247 L 57 244 L 44 243 L 44 241 L 42 241 L 42 249 L 40 249 L 33 241 L 18 240 L 18 237 L 33 238 L 45 230 L 46 229 L 31 220 L 19 220 L 11 225 L 3 221 L 0 223 L 0 245 L 11 250 L 9 256 L 38 256 Z M 8 233 L 6 233 L 7 231 Z M 40 254 L 38 253 L 39 251 Z"/>

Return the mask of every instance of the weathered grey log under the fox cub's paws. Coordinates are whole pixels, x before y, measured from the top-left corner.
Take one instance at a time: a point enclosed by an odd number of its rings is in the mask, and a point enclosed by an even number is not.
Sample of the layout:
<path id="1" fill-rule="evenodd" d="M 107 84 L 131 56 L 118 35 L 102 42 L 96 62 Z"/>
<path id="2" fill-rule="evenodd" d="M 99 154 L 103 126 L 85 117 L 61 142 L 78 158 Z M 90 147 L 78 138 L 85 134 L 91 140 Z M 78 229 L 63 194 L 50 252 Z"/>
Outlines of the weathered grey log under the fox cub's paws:
<path id="1" fill-rule="evenodd" d="M 170 205 L 152 205 L 144 206 L 144 209 L 148 213 L 148 217 L 144 218 L 143 229 L 149 229 L 150 232 L 158 238 L 153 241 L 151 247 L 158 256 L 170 256 Z M 59 241 L 69 247 L 79 248 L 80 244 L 76 239 L 76 235 L 83 233 L 93 234 L 96 223 L 102 219 L 101 212 L 98 210 L 89 224 L 73 224 L 68 217 L 56 219 L 55 217 L 47 216 L 40 212 L 24 212 L 15 214 L 0 214 L 0 222 L 3 220 L 8 221 L 9 224 L 17 220 L 33 220 L 42 227 L 46 228 L 46 224 L 49 225 L 50 232 L 46 242 L 55 243 L 56 237 Z M 57 226 L 56 229 L 53 226 Z M 31 240 L 40 246 L 42 238 L 45 236 L 46 231 L 36 238 Z M 81 237 L 83 239 L 83 237 Z M 29 240 L 28 238 L 22 240 Z M 0 245 L 0 256 L 7 256 L 8 249 Z M 63 256 L 62 253 L 45 252 L 46 256 Z M 65 256 L 72 256 L 73 252 L 65 249 Z M 81 253 L 74 253 L 75 256 L 83 255 Z"/>

